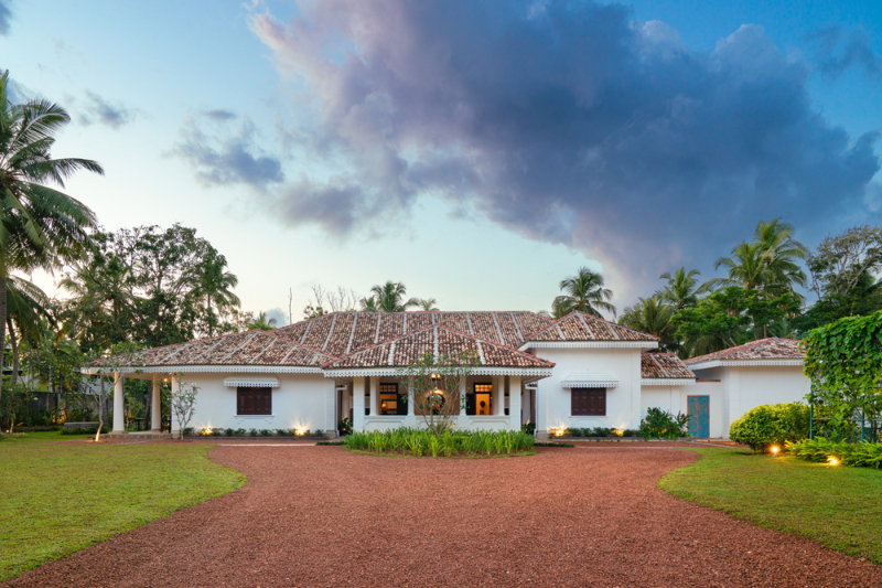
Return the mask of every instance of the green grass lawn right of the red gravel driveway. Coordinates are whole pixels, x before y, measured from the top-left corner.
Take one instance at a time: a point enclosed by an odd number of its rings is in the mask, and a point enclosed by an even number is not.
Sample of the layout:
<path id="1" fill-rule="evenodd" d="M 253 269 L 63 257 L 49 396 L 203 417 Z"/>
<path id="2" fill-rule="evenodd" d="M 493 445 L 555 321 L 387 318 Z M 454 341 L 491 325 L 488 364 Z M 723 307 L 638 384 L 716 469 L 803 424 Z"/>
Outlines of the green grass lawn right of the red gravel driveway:
<path id="1" fill-rule="evenodd" d="M 664 490 L 882 564 L 882 471 L 743 449 L 695 451 L 701 459 L 665 475 Z"/>

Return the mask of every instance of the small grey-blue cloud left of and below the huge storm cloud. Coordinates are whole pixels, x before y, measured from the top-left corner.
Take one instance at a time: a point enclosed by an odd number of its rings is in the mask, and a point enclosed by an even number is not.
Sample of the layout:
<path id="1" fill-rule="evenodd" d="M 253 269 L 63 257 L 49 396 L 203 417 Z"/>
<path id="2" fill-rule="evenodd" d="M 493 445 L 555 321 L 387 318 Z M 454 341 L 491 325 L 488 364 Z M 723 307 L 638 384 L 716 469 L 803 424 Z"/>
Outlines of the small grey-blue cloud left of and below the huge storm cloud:
<path id="1" fill-rule="evenodd" d="M 205 117 L 218 120 L 209 113 Z M 184 158 L 194 168 L 201 182 L 208 185 L 245 184 L 262 190 L 268 184 L 284 180 L 279 159 L 263 154 L 255 145 L 254 125 L 248 120 L 243 122 L 238 131 L 225 137 L 206 135 L 200 122 L 187 122 L 173 153 Z"/>

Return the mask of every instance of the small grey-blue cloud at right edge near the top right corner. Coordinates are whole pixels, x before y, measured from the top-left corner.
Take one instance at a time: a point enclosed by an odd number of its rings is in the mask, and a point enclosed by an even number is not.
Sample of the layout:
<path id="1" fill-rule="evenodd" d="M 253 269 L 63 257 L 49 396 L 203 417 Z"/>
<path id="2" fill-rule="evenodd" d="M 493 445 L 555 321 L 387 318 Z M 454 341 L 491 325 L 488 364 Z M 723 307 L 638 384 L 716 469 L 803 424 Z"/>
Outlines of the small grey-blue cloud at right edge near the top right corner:
<path id="1" fill-rule="evenodd" d="M 829 26 L 810 34 L 818 70 L 830 77 L 839 77 L 847 70 L 858 67 L 872 77 L 882 74 L 882 56 L 873 52 L 870 36 L 861 28 L 846 31 Z"/>

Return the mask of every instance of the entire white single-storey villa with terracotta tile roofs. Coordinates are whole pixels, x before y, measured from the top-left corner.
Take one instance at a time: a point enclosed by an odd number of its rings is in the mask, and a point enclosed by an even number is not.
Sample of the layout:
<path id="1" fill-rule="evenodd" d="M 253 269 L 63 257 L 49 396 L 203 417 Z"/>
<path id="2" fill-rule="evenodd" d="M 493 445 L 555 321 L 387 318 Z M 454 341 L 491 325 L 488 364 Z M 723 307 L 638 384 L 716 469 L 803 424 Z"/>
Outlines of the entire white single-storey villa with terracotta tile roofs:
<path id="1" fill-rule="evenodd" d="M 426 353 L 474 351 L 461 429 L 636 429 L 647 408 L 688 413 L 697 437 L 725 437 L 729 424 L 761 404 L 808 392 L 796 341 L 767 339 L 686 363 L 654 352 L 657 338 L 582 312 L 551 320 L 534 312 L 335 312 L 273 331 L 249 331 L 140 352 L 118 367 L 159 383 L 200 387 L 191 426 L 301 429 L 333 434 L 418 427 L 399 370 Z M 96 373 L 99 364 L 84 371 Z M 122 378 L 114 430 L 123 430 Z M 172 426 L 175 434 L 176 426 Z"/>

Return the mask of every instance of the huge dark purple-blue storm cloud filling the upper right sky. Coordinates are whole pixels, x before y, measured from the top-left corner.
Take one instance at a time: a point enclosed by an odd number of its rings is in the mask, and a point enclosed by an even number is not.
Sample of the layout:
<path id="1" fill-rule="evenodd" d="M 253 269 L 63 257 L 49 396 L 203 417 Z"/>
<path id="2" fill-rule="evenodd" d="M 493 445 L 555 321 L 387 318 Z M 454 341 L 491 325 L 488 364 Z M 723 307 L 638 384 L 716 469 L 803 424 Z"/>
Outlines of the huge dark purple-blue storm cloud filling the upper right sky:
<path id="1" fill-rule="evenodd" d="M 879 169 L 759 26 L 699 53 L 621 6 L 324 0 L 252 29 L 334 170 L 280 193 L 293 224 L 346 233 L 431 193 L 657 284 L 760 218 L 828 232 Z"/>

